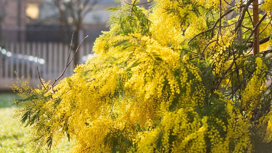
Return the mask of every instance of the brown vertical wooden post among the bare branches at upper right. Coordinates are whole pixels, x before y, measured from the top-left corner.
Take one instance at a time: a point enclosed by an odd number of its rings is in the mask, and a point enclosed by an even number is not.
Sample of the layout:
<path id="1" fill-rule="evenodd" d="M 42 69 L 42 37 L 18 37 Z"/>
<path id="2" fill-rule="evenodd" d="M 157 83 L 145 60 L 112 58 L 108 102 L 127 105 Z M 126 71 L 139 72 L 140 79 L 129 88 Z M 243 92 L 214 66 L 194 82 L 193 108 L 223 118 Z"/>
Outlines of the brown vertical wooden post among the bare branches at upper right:
<path id="1" fill-rule="evenodd" d="M 255 0 L 252 3 L 253 9 L 252 9 L 252 13 L 253 13 L 253 27 L 255 28 L 257 23 L 259 22 L 259 9 L 258 9 L 258 0 Z M 255 30 L 253 37 L 255 39 L 254 41 L 254 45 L 253 45 L 253 55 L 255 56 L 256 54 L 258 54 L 260 51 L 260 36 L 259 36 L 259 27 L 257 27 L 257 29 Z"/>

